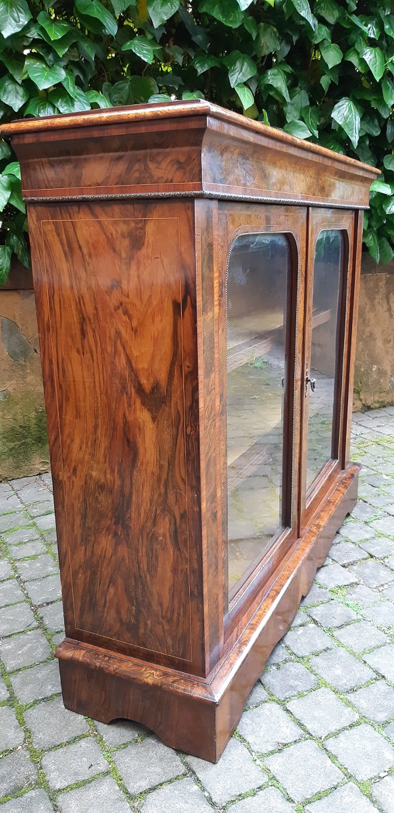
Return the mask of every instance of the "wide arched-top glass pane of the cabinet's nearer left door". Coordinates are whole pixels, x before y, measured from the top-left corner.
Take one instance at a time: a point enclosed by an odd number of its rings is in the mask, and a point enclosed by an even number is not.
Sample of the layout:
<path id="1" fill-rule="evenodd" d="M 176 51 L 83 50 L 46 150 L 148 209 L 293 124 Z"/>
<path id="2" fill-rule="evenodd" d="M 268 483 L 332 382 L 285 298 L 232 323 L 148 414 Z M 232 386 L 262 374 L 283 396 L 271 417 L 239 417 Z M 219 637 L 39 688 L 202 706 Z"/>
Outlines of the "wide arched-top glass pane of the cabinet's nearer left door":
<path id="1" fill-rule="evenodd" d="M 238 237 L 227 276 L 229 598 L 285 524 L 282 505 L 286 300 L 283 234 Z"/>

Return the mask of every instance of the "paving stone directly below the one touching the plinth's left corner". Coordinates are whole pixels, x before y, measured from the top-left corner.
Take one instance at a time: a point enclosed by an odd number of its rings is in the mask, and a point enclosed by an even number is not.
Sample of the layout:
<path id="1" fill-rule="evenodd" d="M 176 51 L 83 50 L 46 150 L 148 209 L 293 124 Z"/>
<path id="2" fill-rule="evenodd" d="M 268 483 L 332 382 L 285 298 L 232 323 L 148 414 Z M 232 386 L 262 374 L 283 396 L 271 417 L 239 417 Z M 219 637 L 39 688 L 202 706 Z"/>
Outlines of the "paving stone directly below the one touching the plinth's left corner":
<path id="1" fill-rule="evenodd" d="M 69 746 L 48 751 L 41 762 L 46 773 L 49 787 L 61 790 L 67 785 L 74 785 L 84 779 L 90 779 L 97 773 L 109 771 L 109 764 L 103 757 L 101 748 L 92 737 Z"/>

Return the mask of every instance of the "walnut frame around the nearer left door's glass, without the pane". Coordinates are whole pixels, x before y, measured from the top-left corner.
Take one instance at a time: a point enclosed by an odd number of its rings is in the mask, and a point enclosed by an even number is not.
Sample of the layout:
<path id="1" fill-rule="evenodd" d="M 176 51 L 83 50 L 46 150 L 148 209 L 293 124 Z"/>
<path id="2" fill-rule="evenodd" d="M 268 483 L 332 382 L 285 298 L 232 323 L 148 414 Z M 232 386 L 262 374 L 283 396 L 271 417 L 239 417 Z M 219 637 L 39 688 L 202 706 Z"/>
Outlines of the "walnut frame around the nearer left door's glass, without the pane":
<path id="1" fill-rule="evenodd" d="M 217 402 L 221 405 L 219 420 L 221 422 L 221 431 L 219 433 L 221 449 L 219 459 L 221 460 L 221 532 L 225 543 L 228 540 L 228 502 L 227 502 L 227 369 L 226 369 L 226 349 L 227 349 L 227 335 L 226 335 L 226 273 L 227 263 L 229 260 L 229 253 L 231 246 L 234 245 L 237 237 L 244 234 L 260 234 L 264 233 L 278 235 L 288 235 L 291 248 L 289 270 L 289 285 L 288 298 L 286 301 L 286 321 L 287 321 L 287 340 L 289 346 L 286 346 L 286 375 L 291 377 L 291 398 L 289 392 L 286 402 L 286 415 L 284 425 L 284 448 L 283 448 L 283 471 L 288 472 L 287 480 L 284 478 L 284 495 L 286 498 L 286 489 L 288 493 L 288 507 L 289 507 L 289 520 L 288 528 L 282 528 L 282 532 L 274 535 L 274 543 L 272 547 L 262 555 L 259 561 L 255 561 L 251 572 L 246 576 L 246 579 L 240 585 L 240 589 L 233 595 L 233 600 L 228 602 L 228 576 L 227 576 L 227 557 L 224 557 L 223 562 L 223 592 L 224 592 L 224 606 L 229 607 L 229 612 L 225 620 L 225 638 L 228 637 L 232 630 L 242 622 L 247 623 L 245 619 L 245 606 L 251 605 L 254 596 L 259 597 L 261 601 L 261 594 L 265 587 L 268 585 L 272 574 L 280 563 L 286 552 L 290 550 L 297 538 L 298 528 L 298 455 L 299 455 L 299 433 L 300 433 L 300 415 L 299 415 L 299 402 L 300 402 L 300 388 L 302 378 L 302 322 L 303 322 L 303 302 L 304 290 L 303 280 L 305 276 L 305 246 L 306 246 L 306 208 L 304 207 L 283 207 L 283 206 L 238 206 L 236 204 L 222 204 L 218 212 L 218 233 L 219 240 L 217 243 L 218 255 L 216 261 L 220 263 L 223 276 L 221 278 L 221 292 L 219 293 L 216 301 L 219 303 L 220 312 L 216 324 L 219 325 L 216 339 L 218 343 L 218 350 L 216 357 L 220 360 L 220 394 Z M 302 302 L 302 307 L 298 306 L 298 302 Z M 289 359 L 289 354 L 291 359 Z M 290 372 L 289 372 L 290 371 Z M 291 412 L 291 414 L 290 414 Z M 289 426 L 291 426 L 291 437 L 289 437 Z M 292 459 L 293 458 L 293 459 Z M 285 482 L 286 480 L 286 482 Z M 276 538 L 277 537 L 277 538 Z M 227 553 L 227 544 L 224 545 L 225 553 Z"/>

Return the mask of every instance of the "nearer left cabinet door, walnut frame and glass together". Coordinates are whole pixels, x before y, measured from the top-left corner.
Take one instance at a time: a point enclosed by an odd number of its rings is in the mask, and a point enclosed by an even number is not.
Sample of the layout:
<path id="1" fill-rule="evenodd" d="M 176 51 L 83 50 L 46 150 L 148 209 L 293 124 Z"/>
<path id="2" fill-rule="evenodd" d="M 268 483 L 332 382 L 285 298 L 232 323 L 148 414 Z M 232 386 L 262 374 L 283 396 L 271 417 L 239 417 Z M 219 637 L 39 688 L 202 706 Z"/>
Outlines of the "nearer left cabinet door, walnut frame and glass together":
<path id="1" fill-rule="evenodd" d="M 229 628 L 297 536 L 306 209 L 218 211 L 221 525 Z"/>

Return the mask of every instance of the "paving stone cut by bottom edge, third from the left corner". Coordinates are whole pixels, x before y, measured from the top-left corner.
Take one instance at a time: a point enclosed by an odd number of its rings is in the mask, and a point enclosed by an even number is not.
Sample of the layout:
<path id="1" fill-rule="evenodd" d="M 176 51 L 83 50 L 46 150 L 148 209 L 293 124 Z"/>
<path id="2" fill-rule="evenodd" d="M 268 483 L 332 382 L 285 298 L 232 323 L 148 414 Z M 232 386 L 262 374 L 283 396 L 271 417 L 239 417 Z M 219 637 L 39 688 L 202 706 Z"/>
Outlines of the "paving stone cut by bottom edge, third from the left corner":
<path id="1" fill-rule="evenodd" d="M 171 782 L 149 793 L 142 806 L 143 813 L 212 813 L 203 791 L 192 779 Z"/>

